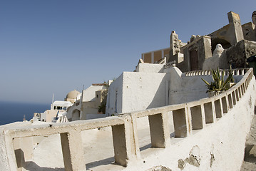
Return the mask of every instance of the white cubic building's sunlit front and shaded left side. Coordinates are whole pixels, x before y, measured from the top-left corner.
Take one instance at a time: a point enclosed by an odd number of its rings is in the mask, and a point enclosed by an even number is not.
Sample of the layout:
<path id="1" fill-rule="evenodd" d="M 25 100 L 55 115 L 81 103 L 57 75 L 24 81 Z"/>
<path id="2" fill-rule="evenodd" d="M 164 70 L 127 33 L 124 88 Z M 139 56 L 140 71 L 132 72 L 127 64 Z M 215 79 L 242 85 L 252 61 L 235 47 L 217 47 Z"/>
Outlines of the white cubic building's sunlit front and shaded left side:
<path id="1" fill-rule="evenodd" d="M 108 88 L 107 115 L 165 105 L 166 78 L 166 73 L 124 72 Z"/>

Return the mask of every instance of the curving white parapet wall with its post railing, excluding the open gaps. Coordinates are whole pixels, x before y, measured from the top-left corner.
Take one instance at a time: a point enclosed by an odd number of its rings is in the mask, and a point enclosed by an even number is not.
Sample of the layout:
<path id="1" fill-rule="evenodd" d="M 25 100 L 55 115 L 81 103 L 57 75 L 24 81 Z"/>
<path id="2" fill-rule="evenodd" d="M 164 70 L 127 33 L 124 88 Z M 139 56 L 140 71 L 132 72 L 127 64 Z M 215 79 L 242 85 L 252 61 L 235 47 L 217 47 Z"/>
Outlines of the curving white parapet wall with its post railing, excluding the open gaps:
<path id="1" fill-rule="evenodd" d="M 205 71 L 196 72 L 186 75 Z M 242 80 L 212 98 L 96 120 L 3 129 L 0 168 L 18 170 L 16 157 L 27 150 L 14 149 L 16 138 L 60 134 L 65 170 L 86 170 L 81 131 L 111 126 L 115 160 L 123 166 L 121 170 L 148 170 L 158 165 L 171 170 L 239 170 L 254 115 L 256 85 L 252 68 L 234 73 L 244 75 Z M 170 115 L 175 137 L 170 136 Z M 143 152 L 136 124 L 142 117 L 148 117 L 152 146 Z"/>

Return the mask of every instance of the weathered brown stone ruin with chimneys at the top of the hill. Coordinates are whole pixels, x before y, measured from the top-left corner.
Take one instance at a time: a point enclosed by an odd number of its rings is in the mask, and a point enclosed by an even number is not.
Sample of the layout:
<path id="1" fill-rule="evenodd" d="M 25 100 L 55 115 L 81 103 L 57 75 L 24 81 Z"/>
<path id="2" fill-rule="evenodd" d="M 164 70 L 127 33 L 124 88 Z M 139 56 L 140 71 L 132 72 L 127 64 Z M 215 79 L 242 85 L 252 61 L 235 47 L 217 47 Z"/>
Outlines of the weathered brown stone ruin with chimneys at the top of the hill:
<path id="1" fill-rule="evenodd" d="M 198 71 L 203 69 L 206 59 L 213 57 L 215 47 L 220 44 L 225 50 L 214 60 L 219 68 L 247 67 L 246 59 L 256 54 L 256 11 L 252 13 L 252 22 L 247 24 L 241 24 L 240 16 L 232 11 L 227 16 L 229 24 L 205 36 L 193 35 L 188 43 L 180 41 L 178 34 L 172 31 L 170 48 L 143 53 L 143 61 L 158 63 L 166 57 L 168 62 L 175 61 L 183 72 Z"/>

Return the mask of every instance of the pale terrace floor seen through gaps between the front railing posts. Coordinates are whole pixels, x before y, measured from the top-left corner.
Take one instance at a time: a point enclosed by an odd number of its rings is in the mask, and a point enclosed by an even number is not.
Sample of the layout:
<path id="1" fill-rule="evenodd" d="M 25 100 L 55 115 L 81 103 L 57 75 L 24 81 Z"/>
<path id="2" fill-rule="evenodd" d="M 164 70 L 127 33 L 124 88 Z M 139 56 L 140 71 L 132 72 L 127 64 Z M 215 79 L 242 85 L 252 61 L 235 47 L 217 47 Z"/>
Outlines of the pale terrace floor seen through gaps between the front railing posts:
<path id="1" fill-rule="evenodd" d="M 173 120 L 171 117 L 170 120 Z M 141 155 L 150 149 L 150 130 L 148 118 L 138 118 L 138 138 Z M 172 123 L 170 123 L 173 125 Z M 170 136 L 174 136 L 170 128 Z M 114 163 L 114 151 L 111 127 L 85 130 L 81 133 L 83 151 L 87 170 L 122 170 L 122 166 Z M 157 150 L 157 149 L 155 149 Z M 60 135 L 47 136 L 34 147 L 34 160 L 26 161 L 24 170 L 64 171 Z"/>

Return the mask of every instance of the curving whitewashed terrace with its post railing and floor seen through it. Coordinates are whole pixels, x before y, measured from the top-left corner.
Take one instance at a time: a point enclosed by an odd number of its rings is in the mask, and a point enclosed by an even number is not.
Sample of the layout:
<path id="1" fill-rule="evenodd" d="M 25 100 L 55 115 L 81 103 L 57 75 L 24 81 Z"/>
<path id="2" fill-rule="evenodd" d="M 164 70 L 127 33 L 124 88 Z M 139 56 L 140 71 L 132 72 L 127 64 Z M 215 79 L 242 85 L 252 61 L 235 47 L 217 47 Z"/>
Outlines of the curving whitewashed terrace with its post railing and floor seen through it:
<path id="1" fill-rule="evenodd" d="M 255 77 L 252 68 L 232 72 L 242 79 L 212 98 L 96 120 L 2 127 L 0 167 L 240 170 L 254 115 Z M 185 76 L 210 76 L 210 71 L 193 71 Z M 48 138 L 33 147 L 34 138 L 39 136 Z"/>

